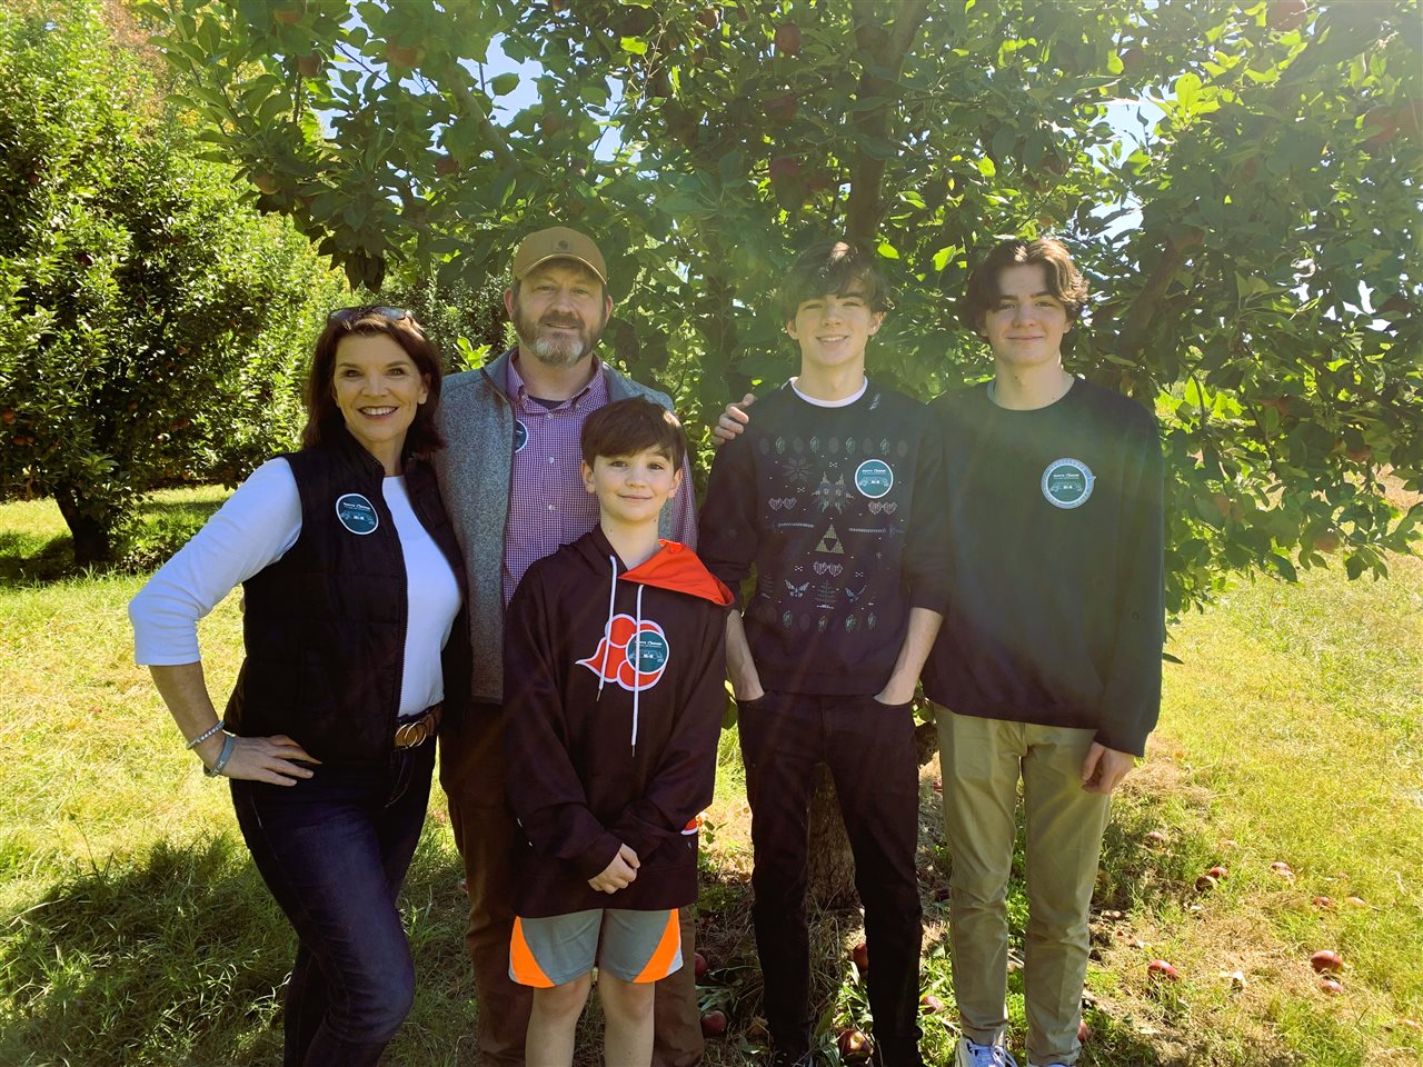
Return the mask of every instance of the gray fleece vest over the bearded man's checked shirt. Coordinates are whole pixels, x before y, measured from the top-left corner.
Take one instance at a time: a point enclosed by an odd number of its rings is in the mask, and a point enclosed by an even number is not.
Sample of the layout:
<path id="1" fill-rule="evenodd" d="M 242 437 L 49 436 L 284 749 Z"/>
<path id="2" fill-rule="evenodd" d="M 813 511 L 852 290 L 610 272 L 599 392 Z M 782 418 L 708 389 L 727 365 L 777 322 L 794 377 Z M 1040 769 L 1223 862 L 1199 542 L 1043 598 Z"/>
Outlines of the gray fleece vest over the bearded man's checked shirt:
<path id="1" fill-rule="evenodd" d="M 509 350 L 478 370 L 444 380 L 438 424 L 448 442 L 435 454 L 435 477 L 454 524 L 468 578 L 471 699 L 504 700 L 504 531 L 514 488 L 514 403 L 505 393 Z M 665 393 L 640 386 L 606 363 L 609 400 L 646 397 L 672 410 Z M 672 535 L 672 506 L 660 519 Z"/>

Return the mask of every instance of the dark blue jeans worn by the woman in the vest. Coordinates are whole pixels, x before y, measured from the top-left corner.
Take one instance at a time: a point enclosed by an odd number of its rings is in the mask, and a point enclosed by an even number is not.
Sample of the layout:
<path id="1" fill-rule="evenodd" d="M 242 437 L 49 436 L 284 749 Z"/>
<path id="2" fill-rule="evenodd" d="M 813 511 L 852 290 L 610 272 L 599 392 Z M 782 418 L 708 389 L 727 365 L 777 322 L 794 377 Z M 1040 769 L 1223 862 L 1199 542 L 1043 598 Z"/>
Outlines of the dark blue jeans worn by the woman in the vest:
<path id="1" fill-rule="evenodd" d="M 383 767 L 317 767 L 296 785 L 232 781 L 242 837 L 299 939 L 285 1067 L 374 1067 L 410 1013 L 416 970 L 396 896 L 434 758 L 425 741 Z"/>

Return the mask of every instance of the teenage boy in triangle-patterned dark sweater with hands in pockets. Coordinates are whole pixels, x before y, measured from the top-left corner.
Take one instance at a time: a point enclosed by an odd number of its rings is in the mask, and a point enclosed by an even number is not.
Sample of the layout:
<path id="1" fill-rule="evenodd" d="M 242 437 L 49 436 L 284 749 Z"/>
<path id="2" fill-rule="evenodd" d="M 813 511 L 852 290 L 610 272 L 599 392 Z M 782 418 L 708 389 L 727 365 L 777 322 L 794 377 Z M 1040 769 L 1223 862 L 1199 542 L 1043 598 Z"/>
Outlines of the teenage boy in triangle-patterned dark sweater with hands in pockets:
<path id="1" fill-rule="evenodd" d="M 712 467 L 699 545 L 736 589 L 727 620 L 751 804 L 753 922 L 776 1064 L 808 1061 L 807 817 L 828 764 L 855 858 L 874 956 L 878 1054 L 916 1067 L 919 1029 L 918 760 L 914 699 L 946 586 L 941 451 L 929 411 L 865 378 L 888 307 L 871 255 L 808 249 L 781 292 L 800 376 Z"/>

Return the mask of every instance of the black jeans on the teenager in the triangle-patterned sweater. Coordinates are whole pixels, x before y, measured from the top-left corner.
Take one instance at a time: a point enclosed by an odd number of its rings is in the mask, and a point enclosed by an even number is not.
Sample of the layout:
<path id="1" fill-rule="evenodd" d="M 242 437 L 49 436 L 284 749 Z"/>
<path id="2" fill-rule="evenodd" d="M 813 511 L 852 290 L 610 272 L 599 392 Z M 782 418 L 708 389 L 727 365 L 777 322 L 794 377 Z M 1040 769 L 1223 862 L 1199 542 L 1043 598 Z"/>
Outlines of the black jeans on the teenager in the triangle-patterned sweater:
<path id="1" fill-rule="evenodd" d="M 756 856 L 751 920 L 771 1041 L 800 1054 L 811 1037 L 805 829 L 824 763 L 865 908 L 877 1056 L 889 1067 L 919 1064 L 919 764 L 909 706 L 773 691 L 743 703 L 739 718 Z"/>

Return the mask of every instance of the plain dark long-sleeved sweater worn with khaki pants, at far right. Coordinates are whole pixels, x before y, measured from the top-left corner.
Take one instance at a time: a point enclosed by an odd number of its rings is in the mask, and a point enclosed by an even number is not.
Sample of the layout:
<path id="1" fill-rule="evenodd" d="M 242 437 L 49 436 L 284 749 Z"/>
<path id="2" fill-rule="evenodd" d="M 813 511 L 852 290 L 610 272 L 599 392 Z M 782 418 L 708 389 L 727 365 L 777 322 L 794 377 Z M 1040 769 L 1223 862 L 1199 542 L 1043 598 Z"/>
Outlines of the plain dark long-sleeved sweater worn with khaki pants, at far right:
<path id="1" fill-rule="evenodd" d="M 1161 440 L 1087 381 L 1009 411 L 941 397 L 953 598 L 925 693 L 966 716 L 1094 730 L 1140 755 L 1161 703 Z"/>

